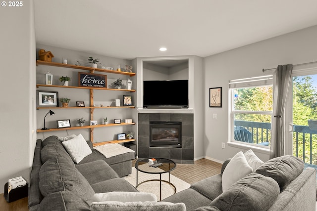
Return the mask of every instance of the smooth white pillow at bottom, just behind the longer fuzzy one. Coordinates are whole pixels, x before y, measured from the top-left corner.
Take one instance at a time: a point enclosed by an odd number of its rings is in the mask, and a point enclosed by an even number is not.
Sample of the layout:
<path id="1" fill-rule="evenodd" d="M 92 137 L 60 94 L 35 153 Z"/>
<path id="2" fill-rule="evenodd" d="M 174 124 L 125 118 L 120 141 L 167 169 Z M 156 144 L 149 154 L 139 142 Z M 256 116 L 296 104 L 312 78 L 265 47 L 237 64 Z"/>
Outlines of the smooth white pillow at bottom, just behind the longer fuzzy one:
<path id="1" fill-rule="evenodd" d="M 117 201 L 117 202 L 147 202 L 158 201 L 157 196 L 153 193 L 142 192 L 108 192 L 96 193 L 93 197 L 94 202 Z"/>

